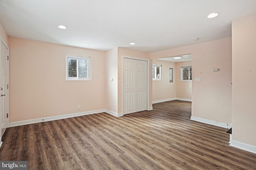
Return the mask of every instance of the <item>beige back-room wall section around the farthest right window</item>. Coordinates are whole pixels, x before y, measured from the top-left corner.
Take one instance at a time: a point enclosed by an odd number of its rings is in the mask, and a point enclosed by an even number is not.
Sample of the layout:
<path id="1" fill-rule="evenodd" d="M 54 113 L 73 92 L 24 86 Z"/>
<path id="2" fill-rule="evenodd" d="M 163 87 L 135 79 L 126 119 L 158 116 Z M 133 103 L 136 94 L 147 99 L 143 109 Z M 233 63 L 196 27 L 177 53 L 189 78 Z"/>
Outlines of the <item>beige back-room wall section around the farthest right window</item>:
<path id="1" fill-rule="evenodd" d="M 176 98 L 192 100 L 192 81 L 181 81 L 181 67 L 192 66 L 192 61 L 176 62 Z M 192 68 L 193 78 L 193 68 Z"/>

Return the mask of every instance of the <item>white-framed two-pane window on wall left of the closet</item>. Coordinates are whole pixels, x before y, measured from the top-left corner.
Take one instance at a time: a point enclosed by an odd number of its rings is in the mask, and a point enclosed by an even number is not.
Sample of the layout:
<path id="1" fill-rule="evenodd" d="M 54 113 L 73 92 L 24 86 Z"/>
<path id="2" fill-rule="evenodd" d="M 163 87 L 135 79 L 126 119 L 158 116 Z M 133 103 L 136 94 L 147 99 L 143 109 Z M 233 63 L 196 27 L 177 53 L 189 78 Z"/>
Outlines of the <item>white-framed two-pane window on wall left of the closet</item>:
<path id="1" fill-rule="evenodd" d="M 91 80 L 91 58 L 66 55 L 66 80 Z"/>

